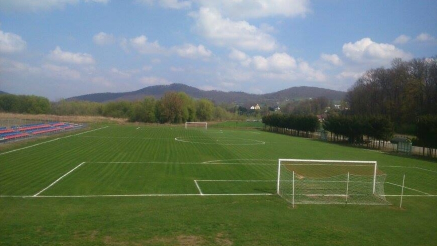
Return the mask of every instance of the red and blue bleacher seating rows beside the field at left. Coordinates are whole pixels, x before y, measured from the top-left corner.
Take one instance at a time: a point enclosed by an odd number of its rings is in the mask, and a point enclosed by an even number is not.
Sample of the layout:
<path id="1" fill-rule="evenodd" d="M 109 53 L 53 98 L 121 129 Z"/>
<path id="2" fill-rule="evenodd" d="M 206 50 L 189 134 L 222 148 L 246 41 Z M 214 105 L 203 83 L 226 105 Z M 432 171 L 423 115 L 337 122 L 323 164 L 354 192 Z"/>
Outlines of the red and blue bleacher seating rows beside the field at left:
<path id="1" fill-rule="evenodd" d="M 73 122 L 48 122 L 40 124 L 13 126 L 10 129 L 8 129 L 7 127 L 0 127 L 0 141 L 5 142 L 82 127 L 82 125 Z"/>

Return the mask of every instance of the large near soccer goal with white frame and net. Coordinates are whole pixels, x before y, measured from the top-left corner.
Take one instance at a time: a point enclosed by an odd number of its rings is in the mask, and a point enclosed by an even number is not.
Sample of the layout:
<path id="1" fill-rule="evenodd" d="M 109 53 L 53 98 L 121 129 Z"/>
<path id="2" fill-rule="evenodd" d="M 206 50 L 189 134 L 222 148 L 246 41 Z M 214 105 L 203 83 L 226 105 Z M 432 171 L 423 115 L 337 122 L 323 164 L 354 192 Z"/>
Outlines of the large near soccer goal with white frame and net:
<path id="1" fill-rule="evenodd" d="M 389 204 L 375 161 L 279 159 L 277 194 L 294 204 Z"/>

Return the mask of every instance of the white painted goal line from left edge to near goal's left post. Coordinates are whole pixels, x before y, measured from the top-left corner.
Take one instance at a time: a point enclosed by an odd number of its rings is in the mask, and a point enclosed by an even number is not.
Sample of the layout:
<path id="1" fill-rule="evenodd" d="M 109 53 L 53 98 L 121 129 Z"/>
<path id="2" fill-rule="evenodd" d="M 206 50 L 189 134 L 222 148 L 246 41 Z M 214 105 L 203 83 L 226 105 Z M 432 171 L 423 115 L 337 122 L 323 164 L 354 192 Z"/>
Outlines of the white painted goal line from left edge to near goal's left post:
<path id="1" fill-rule="evenodd" d="M 271 193 L 244 193 L 244 194 L 132 194 L 132 195 L 65 195 L 65 196 L 8 196 L 0 197 L 22 197 L 22 198 L 80 198 L 80 197 L 153 197 L 153 196 L 270 196 Z"/>

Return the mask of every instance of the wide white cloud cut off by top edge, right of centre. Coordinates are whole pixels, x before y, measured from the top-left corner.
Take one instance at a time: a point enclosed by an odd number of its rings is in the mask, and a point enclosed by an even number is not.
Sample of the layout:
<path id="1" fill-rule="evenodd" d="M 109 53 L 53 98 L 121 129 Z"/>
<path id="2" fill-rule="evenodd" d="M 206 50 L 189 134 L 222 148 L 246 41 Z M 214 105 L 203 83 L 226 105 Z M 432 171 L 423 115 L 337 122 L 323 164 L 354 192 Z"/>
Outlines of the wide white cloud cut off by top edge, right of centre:
<path id="1" fill-rule="evenodd" d="M 310 12 L 309 0 L 198 0 L 208 8 L 220 10 L 233 19 L 263 18 L 271 16 L 305 16 Z"/>

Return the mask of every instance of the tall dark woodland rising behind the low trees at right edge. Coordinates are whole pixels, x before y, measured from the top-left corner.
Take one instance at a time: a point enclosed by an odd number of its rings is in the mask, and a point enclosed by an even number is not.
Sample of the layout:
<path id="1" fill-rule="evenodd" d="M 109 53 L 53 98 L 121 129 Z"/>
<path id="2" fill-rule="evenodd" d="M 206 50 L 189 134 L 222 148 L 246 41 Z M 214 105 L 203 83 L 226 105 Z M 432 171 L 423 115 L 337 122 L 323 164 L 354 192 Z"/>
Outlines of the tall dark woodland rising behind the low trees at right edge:
<path id="1" fill-rule="evenodd" d="M 437 148 L 437 57 L 402 61 L 365 72 L 347 92 L 351 115 L 382 115 L 414 145 Z M 435 150 L 434 150 L 435 152 Z M 435 153 L 434 153 L 435 155 Z"/>

